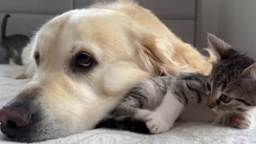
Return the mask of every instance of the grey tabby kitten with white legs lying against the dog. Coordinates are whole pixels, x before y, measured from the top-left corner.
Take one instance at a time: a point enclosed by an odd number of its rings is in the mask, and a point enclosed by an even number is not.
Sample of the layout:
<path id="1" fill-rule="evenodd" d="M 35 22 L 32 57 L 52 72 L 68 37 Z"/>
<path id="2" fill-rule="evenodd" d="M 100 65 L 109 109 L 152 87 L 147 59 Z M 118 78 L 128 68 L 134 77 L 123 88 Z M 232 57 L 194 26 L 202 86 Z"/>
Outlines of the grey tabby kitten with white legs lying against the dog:
<path id="1" fill-rule="evenodd" d="M 199 117 L 209 117 L 212 122 L 216 114 L 226 115 L 226 125 L 249 128 L 254 121 L 250 110 L 256 106 L 255 61 L 212 34 L 208 39 L 219 56 L 208 77 L 182 73 L 178 77 L 146 79 L 130 90 L 102 125 L 115 122 L 118 125 L 110 126 L 131 130 L 129 126 L 132 125 L 127 125 L 127 119 L 130 119 L 131 122 L 146 123 L 151 134 L 159 134 L 170 130 L 178 118 L 195 117 L 193 113 L 198 113 Z M 190 106 L 199 109 L 192 114 L 184 113 Z M 200 109 L 209 111 L 201 114 Z"/>

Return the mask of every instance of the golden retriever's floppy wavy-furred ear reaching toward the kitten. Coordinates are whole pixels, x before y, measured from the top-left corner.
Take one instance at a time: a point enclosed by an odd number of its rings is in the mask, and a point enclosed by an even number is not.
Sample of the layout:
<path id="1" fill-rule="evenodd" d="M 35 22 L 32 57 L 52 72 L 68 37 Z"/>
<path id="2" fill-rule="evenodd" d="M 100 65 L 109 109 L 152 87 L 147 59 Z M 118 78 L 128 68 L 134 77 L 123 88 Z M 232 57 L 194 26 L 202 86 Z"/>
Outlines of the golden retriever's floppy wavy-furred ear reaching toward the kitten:
<path id="1" fill-rule="evenodd" d="M 138 50 L 136 58 L 140 58 L 139 62 L 144 70 L 154 75 L 175 76 L 181 71 L 210 74 L 212 63 L 217 59 L 214 54 L 210 53 L 210 57 L 206 58 L 175 35 L 162 38 L 140 26 L 131 27 L 131 39 Z"/>

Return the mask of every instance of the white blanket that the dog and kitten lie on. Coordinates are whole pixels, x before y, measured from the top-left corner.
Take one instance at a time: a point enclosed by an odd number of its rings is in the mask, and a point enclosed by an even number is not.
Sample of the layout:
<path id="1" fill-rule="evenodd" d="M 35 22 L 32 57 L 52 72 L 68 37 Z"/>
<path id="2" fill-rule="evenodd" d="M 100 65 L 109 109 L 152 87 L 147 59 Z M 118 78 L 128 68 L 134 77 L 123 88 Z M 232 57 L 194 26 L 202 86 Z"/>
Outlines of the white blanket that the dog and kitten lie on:
<path id="1" fill-rule="evenodd" d="M 20 70 L 18 66 L 0 65 L 0 106 L 14 98 L 29 80 L 16 80 L 13 72 Z M 10 142 L 0 134 L 0 143 Z M 250 130 L 238 130 L 229 127 L 211 126 L 210 123 L 187 122 L 178 123 L 173 130 L 165 134 L 143 135 L 119 130 L 89 130 L 82 134 L 71 135 L 40 143 L 107 143 L 107 144 L 150 144 L 150 143 L 256 143 L 256 127 Z"/>

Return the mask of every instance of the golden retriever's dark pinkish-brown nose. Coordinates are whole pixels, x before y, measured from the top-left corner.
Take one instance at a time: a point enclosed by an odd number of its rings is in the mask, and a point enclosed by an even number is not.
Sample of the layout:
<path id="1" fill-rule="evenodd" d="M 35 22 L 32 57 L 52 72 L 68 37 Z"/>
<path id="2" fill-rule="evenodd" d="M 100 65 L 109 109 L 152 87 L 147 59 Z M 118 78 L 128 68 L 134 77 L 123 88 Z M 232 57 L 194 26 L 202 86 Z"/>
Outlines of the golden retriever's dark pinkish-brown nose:
<path id="1" fill-rule="evenodd" d="M 20 107 L 3 106 L 0 110 L 1 130 L 9 137 L 13 137 L 15 131 L 30 123 L 31 114 Z"/>

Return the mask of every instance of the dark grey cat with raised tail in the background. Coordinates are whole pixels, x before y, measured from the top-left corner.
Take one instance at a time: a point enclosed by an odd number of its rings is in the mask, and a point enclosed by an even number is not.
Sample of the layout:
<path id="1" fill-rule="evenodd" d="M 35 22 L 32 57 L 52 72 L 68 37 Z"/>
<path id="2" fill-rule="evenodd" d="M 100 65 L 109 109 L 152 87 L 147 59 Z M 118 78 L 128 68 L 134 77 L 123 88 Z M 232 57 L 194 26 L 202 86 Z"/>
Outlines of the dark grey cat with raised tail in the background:
<path id="1" fill-rule="evenodd" d="M 2 19 L 2 46 L 6 50 L 6 60 L 12 59 L 14 63 L 22 65 L 22 49 L 27 45 L 30 39 L 23 34 L 13 34 L 6 36 L 7 20 L 10 14 L 6 14 Z"/>

